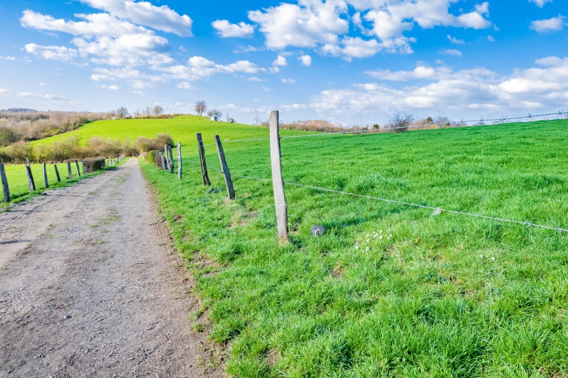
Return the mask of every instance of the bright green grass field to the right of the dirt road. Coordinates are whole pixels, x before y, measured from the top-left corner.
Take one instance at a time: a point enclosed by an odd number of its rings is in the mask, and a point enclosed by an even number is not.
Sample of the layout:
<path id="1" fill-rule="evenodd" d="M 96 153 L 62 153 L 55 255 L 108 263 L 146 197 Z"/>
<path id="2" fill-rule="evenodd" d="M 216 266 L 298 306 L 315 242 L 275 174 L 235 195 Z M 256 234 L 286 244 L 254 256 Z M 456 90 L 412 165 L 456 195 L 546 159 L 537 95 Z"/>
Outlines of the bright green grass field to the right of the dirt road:
<path id="1" fill-rule="evenodd" d="M 567 126 L 283 139 L 283 176 L 568 228 Z M 232 127 L 202 131 L 249 136 Z M 567 233 L 288 184 L 290 243 L 280 245 L 271 182 L 236 177 L 271 177 L 268 141 L 224 147 L 234 201 L 213 169 L 212 187 L 202 186 L 195 149 L 184 152 L 181 181 L 143 171 L 197 277 L 195 331 L 227 347 L 230 374 L 567 377 Z M 317 224 L 327 233 L 312 238 Z"/>

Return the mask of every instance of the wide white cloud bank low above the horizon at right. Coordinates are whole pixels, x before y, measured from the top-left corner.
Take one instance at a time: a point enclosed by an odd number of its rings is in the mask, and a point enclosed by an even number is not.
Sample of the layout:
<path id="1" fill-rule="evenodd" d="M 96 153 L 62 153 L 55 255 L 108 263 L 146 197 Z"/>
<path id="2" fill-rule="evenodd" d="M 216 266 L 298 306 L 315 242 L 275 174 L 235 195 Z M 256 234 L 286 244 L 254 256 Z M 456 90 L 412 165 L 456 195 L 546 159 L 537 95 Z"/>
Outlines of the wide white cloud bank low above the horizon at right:
<path id="1" fill-rule="evenodd" d="M 329 89 L 312 98 L 310 106 L 318 113 L 371 114 L 393 108 L 441 113 L 525 113 L 538 109 L 562 108 L 568 100 L 568 58 L 545 57 L 536 61 L 542 67 L 514 70 L 500 76 L 485 68 L 459 70 L 417 67 L 413 71 L 367 72 L 388 80 L 425 78 L 424 85 L 393 89 L 384 84 L 354 84 L 348 89 Z"/>

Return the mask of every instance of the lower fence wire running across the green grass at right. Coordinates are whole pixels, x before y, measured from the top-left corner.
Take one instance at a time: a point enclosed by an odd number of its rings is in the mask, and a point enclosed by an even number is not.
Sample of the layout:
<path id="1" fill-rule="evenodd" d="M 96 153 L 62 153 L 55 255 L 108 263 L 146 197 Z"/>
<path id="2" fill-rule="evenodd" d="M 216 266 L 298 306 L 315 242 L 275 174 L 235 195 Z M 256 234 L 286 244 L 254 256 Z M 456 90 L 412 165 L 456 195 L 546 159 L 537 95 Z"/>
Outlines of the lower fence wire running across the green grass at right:
<path id="1" fill-rule="evenodd" d="M 191 161 L 191 162 L 194 163 L 194 164 L 197 164 L 197 165 L 201 165 L 200 162 L 193 162 L 193 161 Z M 207 165 L 207 167 L 210 168 L 210 169 L 213 169 L 215 171 L 218 171 L 218 172 L 223 172 L 222 169 L 218 169 L 216 167 L 211 167 L 209 165 Z M 263 178 L 260 178 L 260 177 L 241 176 L 239 174 L 231 174 L 231 177 L 239 177 L 240 179 L 251 179 L 251 180 L 257 180 L 257 181 L 264 181 L 264 182 L 272 182 L 272 179 L 263 179 Z M 554 231 L 558 231 L 558 232 L 562 232 L 562 233 L 568 233 L 568 229 L 565 229 L 565 228 L 550 227 L 550 226 L 545 226 L 545 225 L 532 223 L 532 222 L 514 221 L 514 220 L 511 220 L 511 219 L 507 219 L 507 218 L 484 216 L 482 214 L 467 213 L 467 212 L 464 212 L 464 211 L 442 209 L 441 207 L 437 207 L 437 206 L 413 204 L 411 202 L 397 201 L 397 200 L 394 200 L 394 199 L 384 199 L 384 198 L 376 197 L 376 196 L 366 196 L 364 194 L 349 193 L 348 191 L 326 189 L 326 188 L 322 188 L 322 187 L 313 187 L 311 185 L 298 184 L 296 182 L 286 182 L 285 181 L 284 184 L 285 185 L 292 185 L 292 186 L 295 186 L 295 187 L 303 187 L 303 188 L 307 188 L 307 189 L 326 191 L 328 193 L 342 194 L 342 195 L 345 195 L 345 196 L 354 196 L 354 197 L 359 197 L 359 198 L 364 198 L 364 199 L 373 199 L 373 200 L 376 200 L 376 201 L 387 202 L 389 204 L 398 204 L 398 205 L 403 205 L 403 206 L 416 207 L 418 209 L 433 210 L 434 211 L 433 215 L 439 215 L 440 213 L 452 213 L 452 214 L 457 214 L 457 215 L 462 215 L 462 216 L 471 216 L 471 217 L 474 217 L 474 218 L 489 219 L 491 221 L 498 221 L 498 222 L 502 222 L 502 223 L 520 224 L 520 225 L 528 226 L 528 227 L 543 228 L 545 230 L 554 230 Z"/>

